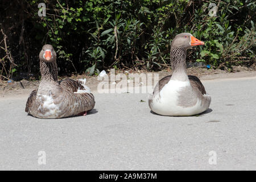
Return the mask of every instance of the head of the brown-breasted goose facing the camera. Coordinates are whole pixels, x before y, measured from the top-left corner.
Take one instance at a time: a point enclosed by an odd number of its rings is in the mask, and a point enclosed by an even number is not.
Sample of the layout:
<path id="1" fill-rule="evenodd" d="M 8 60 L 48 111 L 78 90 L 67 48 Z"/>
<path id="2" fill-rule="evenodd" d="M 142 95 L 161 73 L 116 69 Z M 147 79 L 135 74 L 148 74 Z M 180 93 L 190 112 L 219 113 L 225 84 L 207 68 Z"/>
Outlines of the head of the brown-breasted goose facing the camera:
<path id="1" fill-rule="evenodd" d="M 40 60 L 44 61 L 45 63 L 51 63 L 56 60 L 56 52 L 53 49 L 53 46 L 50 44 L 46 44 L 43 46 L 40 54 Z"/>

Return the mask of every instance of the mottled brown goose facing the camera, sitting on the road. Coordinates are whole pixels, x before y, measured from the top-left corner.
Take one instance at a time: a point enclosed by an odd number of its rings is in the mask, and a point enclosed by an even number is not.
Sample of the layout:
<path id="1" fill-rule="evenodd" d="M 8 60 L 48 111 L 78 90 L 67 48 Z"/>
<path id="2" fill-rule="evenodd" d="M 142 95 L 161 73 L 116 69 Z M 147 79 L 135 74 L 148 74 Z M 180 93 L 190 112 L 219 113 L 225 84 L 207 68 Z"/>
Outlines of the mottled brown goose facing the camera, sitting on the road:
<path id="1" fill-rule="evenodd" d="M 39 54 L 41 82 L 28 97 L 25 111 L 36 118 L 65 118 L 86 115 L 95 101 L 86 79 L 58 81 L 56 52 L 50 44 Z"/>

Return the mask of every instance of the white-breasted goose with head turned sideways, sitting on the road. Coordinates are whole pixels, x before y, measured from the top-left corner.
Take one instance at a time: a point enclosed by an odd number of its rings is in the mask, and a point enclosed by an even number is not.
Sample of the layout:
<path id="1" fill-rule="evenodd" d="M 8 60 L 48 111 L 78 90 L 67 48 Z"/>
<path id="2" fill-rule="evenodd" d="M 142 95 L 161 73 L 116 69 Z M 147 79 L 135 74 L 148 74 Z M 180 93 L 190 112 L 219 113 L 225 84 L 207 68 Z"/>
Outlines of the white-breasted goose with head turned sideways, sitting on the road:
<path id="1" fill-rule="evenodd" d="M 175 36 L 171 44 L 172 75 L 163 77 L 148 98 L 148 105 L 156 114 L 189 116 L 203 113 L 209 108 L 211 97 L 205 92 L 198 77 L 187 75 L 187 49 L 204 45 L 189 33 Z"/>

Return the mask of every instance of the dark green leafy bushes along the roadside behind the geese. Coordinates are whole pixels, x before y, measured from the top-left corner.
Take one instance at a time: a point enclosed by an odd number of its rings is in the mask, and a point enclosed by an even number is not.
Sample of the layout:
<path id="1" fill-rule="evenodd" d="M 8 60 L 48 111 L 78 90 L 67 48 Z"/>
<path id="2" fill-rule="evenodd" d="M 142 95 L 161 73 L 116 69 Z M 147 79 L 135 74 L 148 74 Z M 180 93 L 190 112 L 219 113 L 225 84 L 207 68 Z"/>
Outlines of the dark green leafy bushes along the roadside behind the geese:
<path id="1" fill-rule="evenodd" d="M 38 54 L 49 43 L 57 52 L 61 74 L 93 75 L 106 68 L 159 70 L 169 67 L 171 40 L 181 32 L 205 41 L 205 46 L 188 52 L 189 61 L 205 61 L 214 68 L 255 62 L 252 0 L 211 1 L 217 16 L 209 15 L 213 7 L 208 1 L 58 0 L 44 1 L 47 16 L 39 17 L 40 2 L 1 2 L 8 12 L 1 11 L 1 28 L 16 64 L 2 49 L 2 68 L 39 75 Z M 1 75 L 10 76 L 2 68 Z"/>

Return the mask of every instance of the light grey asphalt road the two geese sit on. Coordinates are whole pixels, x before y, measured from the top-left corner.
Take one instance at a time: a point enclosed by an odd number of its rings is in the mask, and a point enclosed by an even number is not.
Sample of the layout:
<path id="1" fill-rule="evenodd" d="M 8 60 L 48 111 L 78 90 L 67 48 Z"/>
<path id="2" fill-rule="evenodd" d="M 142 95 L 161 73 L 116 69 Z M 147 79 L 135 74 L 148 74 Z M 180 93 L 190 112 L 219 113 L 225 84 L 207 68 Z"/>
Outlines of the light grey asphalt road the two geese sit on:
<path id="1" fill-rule="evenodd" d="M 212 104 L 197 117 L 152 114 L 147 94 L 96 93 L 90 114 L 64 119 L 0 100 L 0 169 L 256 170 L 256 78 L 203 83 Z"/>

